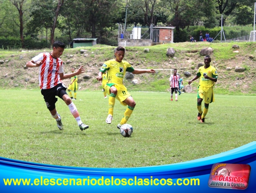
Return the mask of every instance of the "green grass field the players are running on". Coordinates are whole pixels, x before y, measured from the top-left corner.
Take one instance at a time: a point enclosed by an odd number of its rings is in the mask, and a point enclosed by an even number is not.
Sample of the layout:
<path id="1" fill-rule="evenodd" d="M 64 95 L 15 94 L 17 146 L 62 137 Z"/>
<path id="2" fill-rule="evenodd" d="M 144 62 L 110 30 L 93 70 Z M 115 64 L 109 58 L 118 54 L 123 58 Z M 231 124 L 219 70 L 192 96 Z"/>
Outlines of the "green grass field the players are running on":
<path id="1" fill-rule="evenodd" d="M 78 167 L 143 167 L 219 154 L 256 139 L 256 96 L 215 95 L 206 122 L 197 121 L 196 93 L 170 101 L 167 92 L 131 92 L 131 137 L 116 125 L 126 107 L 116 101 L 111 125 L 108 99 L 100 91 L 78 91 L 74 101 L 89 129 L 81 131 L 68 107 L 56 107 L 64 130 L 51 117 L 40 90 L 0 90 L 0 156 Z"/>

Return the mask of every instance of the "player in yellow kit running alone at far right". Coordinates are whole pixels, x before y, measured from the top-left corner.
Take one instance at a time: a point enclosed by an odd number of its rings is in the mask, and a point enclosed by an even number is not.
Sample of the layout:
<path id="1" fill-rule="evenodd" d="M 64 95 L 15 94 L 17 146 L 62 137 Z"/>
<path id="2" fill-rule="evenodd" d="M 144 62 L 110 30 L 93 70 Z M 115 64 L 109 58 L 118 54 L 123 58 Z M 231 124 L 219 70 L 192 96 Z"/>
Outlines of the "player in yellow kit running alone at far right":
<path id="1" fill-rule="evenodd" d="M 218 73 L 216 69 L 210 65 L 211 57 L 204 57 L 204 66 L 200 67 L 193 79 L 188 81 L 191 84 L 194 80 L 200 77 L 200 82 L 197 87 L 197 120 L 204 122 L 204 118 L 208 112 L 209 103 L 214 102 L 213 86 L 217 82 Z M 204 110 L 202 111 L 202 101 L 204 99 Z"/>

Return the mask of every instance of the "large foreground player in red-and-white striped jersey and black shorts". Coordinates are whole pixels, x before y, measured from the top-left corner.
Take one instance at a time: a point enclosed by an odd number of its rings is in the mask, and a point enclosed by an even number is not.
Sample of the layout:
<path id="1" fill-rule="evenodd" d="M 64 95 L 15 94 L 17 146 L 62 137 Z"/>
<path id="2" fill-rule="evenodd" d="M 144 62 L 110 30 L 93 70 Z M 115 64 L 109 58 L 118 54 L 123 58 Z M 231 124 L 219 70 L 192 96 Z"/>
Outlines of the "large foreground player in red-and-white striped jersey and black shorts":
<path id="1" fill-rule="evenodd" d="M 60 56 L 63 54 L 65 49 L 65 44 L 60 41 L 53 43 L 53 50 L 50 53 L 40 53 L 37 56 L 33 57 L 32 60 L 27 62 L 27 67 L 39 67 L 39 84 L 41 88 L 41 94 L 44 96 L 44 100 L 47 108 L 49 109 L 52 117 L 56 119 L 57 126 L 60 130 L 63 130 L 63 124 L 61 122 L 61 117 L 57 113 L 55 103 L 59 96 L 69 107 L 72 115 L 78 123 L 78 126 L 81 130 L 89 128 L 88 125 L 83 124 L 79 116 L 78 110 L 76 109 L 75 104 L 69 98 L 66 90 L 67 88 L 61 80 L 68 79 L 73 76 L 77 76 L 84 72 L 84 67 L 80 66 L 78 71 L 64 74 L 63 71 L 63 62 L 60 59 Z"/>

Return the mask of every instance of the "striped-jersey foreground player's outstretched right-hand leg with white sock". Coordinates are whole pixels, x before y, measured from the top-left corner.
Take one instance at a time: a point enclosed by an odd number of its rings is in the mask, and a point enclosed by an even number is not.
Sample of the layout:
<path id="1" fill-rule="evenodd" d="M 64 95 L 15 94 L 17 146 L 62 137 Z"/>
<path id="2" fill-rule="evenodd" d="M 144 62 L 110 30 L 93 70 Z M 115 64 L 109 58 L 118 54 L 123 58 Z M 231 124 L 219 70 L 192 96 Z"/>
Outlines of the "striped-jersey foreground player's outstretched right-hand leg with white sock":
<path id="1" fill-rule="evenodd" d="M 58 96 L 63 99 L 63 101 L 66 103 L 66 105 L 68 105 L 68 108 L 71 112 L 71 114 L 74 116 L 79 128 L 81 130 L 85 130 L 85 129 L 88 129 L 89 126 L 88 125 L 85 125 L 83 124 L 81 118 L 80 118 L 80 115 L 79 115 L 79 112 L 75 106 L 75 104 L 72 102 L 71 98 L 69 98 L 67 92 L 65 91 L 64 89 L 65 87 L 61 88 L 59 90 L 59 93 L 58 93 Z"/>

